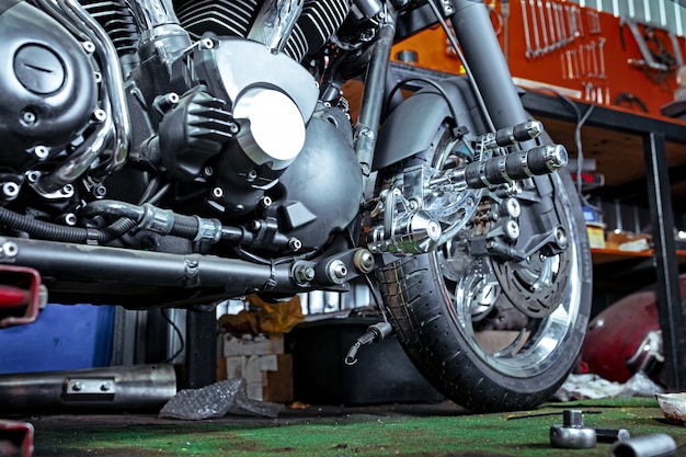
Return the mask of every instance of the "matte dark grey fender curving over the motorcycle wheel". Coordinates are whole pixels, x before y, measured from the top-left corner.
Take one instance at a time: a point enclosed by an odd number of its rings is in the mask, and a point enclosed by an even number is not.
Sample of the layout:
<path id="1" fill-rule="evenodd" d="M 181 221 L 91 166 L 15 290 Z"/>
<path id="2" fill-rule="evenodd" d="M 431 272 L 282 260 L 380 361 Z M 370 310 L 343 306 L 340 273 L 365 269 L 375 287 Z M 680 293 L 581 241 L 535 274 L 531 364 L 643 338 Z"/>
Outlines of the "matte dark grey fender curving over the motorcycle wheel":
<path id="1" fill-rule="evenodd" d="M 455 77 L 438 84 L 450 99 L 456 125 L 467 126 L 472 134 L 484 133 L 485 123 L 479 112 L 467 78 Z M 373 170 L 407 159 L 431 146 L 436 129 L 453 114 L 444 95 L 427 85 L 404 100 L 388 116 L 379 132 Z"/>

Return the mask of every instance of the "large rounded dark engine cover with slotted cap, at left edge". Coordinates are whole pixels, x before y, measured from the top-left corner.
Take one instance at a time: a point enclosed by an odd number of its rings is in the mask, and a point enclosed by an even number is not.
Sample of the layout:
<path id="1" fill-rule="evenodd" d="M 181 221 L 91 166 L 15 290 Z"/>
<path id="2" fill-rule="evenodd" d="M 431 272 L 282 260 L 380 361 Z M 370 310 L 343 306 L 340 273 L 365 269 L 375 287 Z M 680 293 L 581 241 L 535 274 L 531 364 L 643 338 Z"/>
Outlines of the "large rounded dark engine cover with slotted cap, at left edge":
<path id="1" fill-rule="evenodd" d="M 27 2 L 12 3 L 0 2 L 0 165 L 23 173 L 78 139 L 98 107 L 98 84 L 92 43 Z"/>

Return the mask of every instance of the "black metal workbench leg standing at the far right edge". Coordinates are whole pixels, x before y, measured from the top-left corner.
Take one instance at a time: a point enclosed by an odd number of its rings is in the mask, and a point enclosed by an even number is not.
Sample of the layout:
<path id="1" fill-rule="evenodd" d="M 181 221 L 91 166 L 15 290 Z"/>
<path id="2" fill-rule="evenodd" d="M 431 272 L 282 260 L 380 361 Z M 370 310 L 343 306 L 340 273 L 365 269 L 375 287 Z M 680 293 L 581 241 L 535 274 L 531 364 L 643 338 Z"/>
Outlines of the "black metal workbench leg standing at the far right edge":
<path id="1" fill-rule="evenodd" d="M 684 357 L 686 346 L 665 136 L 658 133 L 645 135 L 643 151 L 650 216 L 653 225 L 658 309 L 665 355 L 665 381 L 667 389 L 682 391 L 686 386 L 686 358 Z"/>

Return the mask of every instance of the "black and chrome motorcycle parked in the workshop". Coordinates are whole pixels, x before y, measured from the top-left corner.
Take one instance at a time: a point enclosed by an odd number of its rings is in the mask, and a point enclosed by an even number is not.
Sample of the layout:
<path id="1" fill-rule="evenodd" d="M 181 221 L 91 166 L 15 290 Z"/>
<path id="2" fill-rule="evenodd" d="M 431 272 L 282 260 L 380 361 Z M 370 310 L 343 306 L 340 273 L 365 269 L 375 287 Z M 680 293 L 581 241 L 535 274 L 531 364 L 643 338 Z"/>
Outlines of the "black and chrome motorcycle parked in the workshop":
<path id="1" fill-rule="evenodd" d="M 45 290 L 204 309 L 363 282 L 384 320 L 351 363 L 393 331 L 473 411 L 573 368 L 585 224 L 483 2 L 0 1 L 4 324 Z M 467 77 L 399 77 L 391 46 L 434 24 Z"/>

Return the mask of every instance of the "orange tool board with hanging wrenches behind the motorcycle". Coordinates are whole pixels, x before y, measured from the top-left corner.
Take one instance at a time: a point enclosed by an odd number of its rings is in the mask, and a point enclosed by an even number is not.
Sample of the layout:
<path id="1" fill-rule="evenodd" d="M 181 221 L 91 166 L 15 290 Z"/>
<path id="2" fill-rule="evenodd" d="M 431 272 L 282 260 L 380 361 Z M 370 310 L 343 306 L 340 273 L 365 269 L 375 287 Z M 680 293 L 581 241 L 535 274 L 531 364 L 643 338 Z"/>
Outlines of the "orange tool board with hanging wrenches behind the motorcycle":
<path id="1" fill-rule="evenodd" d="M 675 61 L 686 48 L 683 37 L 643 24 L 629 25 L 613 14 L 564 0 L 510 0 L 506 16 L 500 1 L 489 4 L 512 76 L 525 89 L 552 90 L 602 105 L 619 101 L 637 112 L 644 106 L 655 117 L 674 100 L 676 65 L 659 69 L 641 61 L 653 55 L 659 56 L 658 64 Z M 648 46 L 648 56 L 640 41 Z M 405 50 L 413 52 L 420 67 L 464 73 L 441 27 L 397 44 L 392 56 L 400 58 Z"/>

